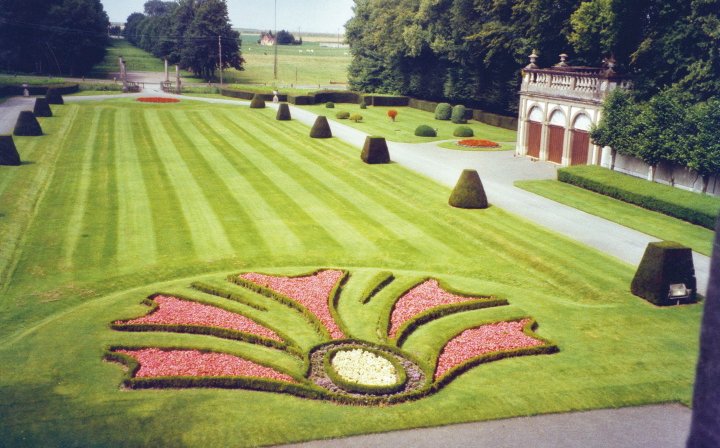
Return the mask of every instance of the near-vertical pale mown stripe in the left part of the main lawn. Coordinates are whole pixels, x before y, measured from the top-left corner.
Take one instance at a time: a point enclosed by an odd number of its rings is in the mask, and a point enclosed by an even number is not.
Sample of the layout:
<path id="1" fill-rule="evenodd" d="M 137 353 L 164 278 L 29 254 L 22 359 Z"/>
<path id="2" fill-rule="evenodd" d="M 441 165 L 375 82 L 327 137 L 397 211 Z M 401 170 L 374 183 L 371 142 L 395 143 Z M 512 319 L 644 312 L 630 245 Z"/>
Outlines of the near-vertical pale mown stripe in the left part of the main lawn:
<path id="1" fill-rule="evenodd" d="M 152 221 L 152 208 L 138 151 L 127 135 L 132 132 L 131 111 L 120 109 L 115 117 L 113 140 L 124 142 L 115 154 L 115 175 L 118 188 L 118 266 L 137 269 L 156 262 L 157 247 Z M 143 148 L 144 149 L 144 148 Z"/>

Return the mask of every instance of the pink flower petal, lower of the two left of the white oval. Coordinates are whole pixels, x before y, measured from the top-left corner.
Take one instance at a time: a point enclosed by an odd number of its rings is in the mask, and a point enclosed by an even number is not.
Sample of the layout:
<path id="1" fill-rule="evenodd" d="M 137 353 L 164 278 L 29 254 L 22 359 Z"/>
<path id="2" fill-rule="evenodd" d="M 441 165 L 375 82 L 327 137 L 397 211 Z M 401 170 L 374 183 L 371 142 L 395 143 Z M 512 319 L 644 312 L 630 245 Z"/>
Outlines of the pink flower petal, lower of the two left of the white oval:
<path id="1" fill-rule="evenodd" d="M 160 350 L 146 348 L 142 350 L 117 350 L 135 358 L 140 368 L 136 378 L 155 378 L 163 376 L 247 376 L 294 383 L 290 376 L 270 367 L 238 358 L 227 353 L 203 353 L 197 350 Z"/>

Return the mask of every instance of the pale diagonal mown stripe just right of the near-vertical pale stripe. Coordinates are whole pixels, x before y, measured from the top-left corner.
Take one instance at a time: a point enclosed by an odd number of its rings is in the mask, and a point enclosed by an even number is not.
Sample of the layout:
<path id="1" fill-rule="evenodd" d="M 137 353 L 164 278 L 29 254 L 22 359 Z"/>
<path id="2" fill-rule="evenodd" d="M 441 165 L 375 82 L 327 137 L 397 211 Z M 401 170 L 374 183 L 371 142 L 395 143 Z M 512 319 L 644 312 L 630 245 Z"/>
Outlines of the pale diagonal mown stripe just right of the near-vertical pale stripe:
<path id="1" fill-rule="evenodd" d="M 208 198 L 204 196 L 202 188 L 175 148 L 170 138 L 170 130 L 162 123 L 157 110 L 147 110 L 145 115 L 150 127 L 157 130 L 151 133 L 152 140 L 168 171 L 173 188 L 178 197 L 182 198 L 180 206 L 190 228 L 196 254 L 204 260 L 232 255 L 232 247 L 225 229 L 208 205 Z"/>

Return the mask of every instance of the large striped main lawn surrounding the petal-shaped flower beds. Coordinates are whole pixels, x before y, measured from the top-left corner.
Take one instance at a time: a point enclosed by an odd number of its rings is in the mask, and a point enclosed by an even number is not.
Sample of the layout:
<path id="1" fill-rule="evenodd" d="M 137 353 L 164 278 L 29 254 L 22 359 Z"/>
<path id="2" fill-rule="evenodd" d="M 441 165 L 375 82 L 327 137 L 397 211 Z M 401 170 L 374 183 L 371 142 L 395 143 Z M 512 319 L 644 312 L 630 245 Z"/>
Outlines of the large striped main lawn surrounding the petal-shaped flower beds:
<path id="1" fill-rule="evenodd" d="M 5 445 L 252 446 L 691 401 L 702 306 L 660 309 L 633 297 L 632 266 L 497 207 L 451 208 L 448 188 L 397 164 L 365 165 L 359 149 L 310 139 L 270 109 L 122 99 L 53 112 L 40 119 L 46 135 L 16 138 L 26 163 L 0 167 Z M 190 290 L 194 280 L 226 285 L 230 273 L 323 267 L 351 272 L 338 311 L 368 339 L 394 294 L 419 278 L 509 301 L 422 325 L 403 345 L 419 358 L 458 329 L 519 316 L 537 319 L 560 352 L 482 365 L 430 397 L 387 407 L 123 390 L 126 372 L 102 360 L 109 345 L 149 344 L 297 369 L 248 343 L 109 325 L 146 313 L 143 299 L 161 291 L 220 301 Z M 363 305 L 362 285 L 378 270 L 397 280 Z M 269 311 L 268 320 L 309 347 L 311 336 L 283 316 Z"/>

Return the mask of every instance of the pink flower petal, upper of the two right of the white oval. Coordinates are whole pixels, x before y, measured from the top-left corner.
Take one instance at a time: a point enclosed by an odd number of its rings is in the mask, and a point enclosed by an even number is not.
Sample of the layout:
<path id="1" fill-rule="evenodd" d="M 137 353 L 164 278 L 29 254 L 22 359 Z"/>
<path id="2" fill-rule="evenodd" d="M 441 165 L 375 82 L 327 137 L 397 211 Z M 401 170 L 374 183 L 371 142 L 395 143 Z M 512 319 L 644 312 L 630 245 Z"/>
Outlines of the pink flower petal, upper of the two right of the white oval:
<path id="1" fill-rule="evenodd" d="M 437 280 L 427 280 L 406 292 L 395 303 L 390 316 L 390 337 L 396 336 L 402 324 L 430 308 L 482 298 L 452 294 L 442 289 Z"/>

